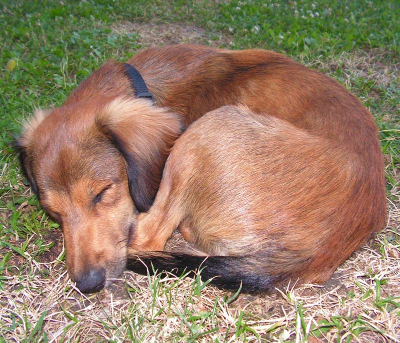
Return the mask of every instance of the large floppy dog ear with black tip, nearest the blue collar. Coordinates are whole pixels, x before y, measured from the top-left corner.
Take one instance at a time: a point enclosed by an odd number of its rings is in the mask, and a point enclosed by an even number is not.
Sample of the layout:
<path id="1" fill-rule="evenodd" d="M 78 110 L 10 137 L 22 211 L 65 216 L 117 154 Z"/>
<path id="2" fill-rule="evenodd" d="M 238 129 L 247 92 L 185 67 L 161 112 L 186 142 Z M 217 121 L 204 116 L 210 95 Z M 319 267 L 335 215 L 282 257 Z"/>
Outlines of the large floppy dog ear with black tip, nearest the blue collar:
<path id="1" fill-rule="evenodd" d="M 136 209 L 146 212 L 157 193 L 169 150 L 182 132 L 181 117 L 145 99 L 117 98 L 96 115 L 95 121 L 125 161 Z"/>

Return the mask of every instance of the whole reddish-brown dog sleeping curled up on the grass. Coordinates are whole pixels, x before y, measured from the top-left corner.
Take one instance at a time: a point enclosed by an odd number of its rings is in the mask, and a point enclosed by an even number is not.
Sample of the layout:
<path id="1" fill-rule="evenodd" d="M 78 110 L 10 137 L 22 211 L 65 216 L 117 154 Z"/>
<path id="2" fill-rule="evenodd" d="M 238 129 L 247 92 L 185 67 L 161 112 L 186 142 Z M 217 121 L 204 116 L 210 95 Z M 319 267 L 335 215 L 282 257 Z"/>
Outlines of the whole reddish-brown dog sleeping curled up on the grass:
<path id="1" fill-rule="evenodd" d="M 212 111 L 223 105 L 247 109 Z M 209 111 L 173 148 L 150 209 L 175 140 Z M 128 257 L 143 272 L 136 255 L 197 267 L 202 254 L 137 253 L 162 250 L 176 225 L 219 256 L 203 266 L 224 274 L 221 286 L 323 282 L 385 221 L 372 116 L 328 76 L 272 51 L 181 44 L 107 61 L 62 106 L 36 110 L 19 147 L 82 292 L 109 285 Z"/>

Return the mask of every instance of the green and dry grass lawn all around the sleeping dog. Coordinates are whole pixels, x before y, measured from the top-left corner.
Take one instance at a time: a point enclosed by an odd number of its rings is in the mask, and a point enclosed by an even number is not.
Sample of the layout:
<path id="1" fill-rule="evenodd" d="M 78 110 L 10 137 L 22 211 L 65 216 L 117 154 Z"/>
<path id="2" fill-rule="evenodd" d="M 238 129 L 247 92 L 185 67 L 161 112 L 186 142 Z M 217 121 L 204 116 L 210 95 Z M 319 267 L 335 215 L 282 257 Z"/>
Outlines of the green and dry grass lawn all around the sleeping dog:
<path id="1" fill-rule="evenodd" d="M 398 1 L 13 1 L 0 7 L 0 342 L 400 342 Z M 199 278 L 126 273 L 89 297 L 12 142 L 107 58 L 149 44 L 269 48 L 319 69 L 370 109 L 385 155 L 387 227 L 327 285 L 234 295 Z M 7 64 L 15 61 L 15 67 Z"/>

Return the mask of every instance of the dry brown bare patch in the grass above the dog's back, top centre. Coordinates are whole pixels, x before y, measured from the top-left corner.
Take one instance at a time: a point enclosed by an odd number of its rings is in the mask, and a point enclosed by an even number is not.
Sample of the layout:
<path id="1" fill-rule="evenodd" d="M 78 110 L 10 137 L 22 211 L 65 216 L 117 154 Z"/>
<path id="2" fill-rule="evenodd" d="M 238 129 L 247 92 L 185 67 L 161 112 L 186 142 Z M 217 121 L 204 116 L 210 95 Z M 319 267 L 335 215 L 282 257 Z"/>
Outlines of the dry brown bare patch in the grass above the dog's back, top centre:
<path id="1" fill-rule="evenodd" d="M 143 47 L 178 43 L 207 44 L 215 47 L 229 44 L 226 34 L 215 32 L 209 35 L 203 28 L 185 23 L 122 21 L 113 24 L 111 29 L 118 34 L 136 33 Z"/>

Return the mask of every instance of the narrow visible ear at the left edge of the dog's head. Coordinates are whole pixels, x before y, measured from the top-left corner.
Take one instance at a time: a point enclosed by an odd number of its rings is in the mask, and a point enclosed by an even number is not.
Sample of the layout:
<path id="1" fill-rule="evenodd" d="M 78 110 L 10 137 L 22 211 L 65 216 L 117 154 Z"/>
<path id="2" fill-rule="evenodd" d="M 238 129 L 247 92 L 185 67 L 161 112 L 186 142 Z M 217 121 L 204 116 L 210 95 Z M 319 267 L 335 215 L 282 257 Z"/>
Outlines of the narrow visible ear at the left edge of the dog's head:
<path id="1" fill-rule="evenodd" d="M 34 159 L 33 146 L 35 144 L 33 136 L 36 128 L 50 112 L 51 109 L 37 108 L 32 117 L 24 123 L 21 135 L 15 144 L 16 149 L 19 152 L 19 161 L 21 163 L 22 170 L 30 183 L 32 191 L 37 197 L 39 196 L 39 192 L 32 172 L 32 163 Z"/>

